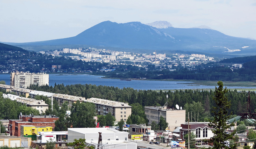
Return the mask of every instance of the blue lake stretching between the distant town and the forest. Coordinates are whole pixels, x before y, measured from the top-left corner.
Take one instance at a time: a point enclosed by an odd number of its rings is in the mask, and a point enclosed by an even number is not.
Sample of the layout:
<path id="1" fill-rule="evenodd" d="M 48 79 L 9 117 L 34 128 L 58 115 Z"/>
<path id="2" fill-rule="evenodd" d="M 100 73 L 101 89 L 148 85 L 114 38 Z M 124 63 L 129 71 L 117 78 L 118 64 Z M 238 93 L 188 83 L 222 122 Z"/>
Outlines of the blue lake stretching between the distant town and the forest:
<path id="1" fill-rule="evenodd" d="M 150 81 L 150 80 L 132 80 L 121 81 L 119 79 L 101 78 L 103 76 L 93 76 L 87 74 L 49 74 L 49 85 L 54 84 L 92 84 L 102 86 L 114 86 L 118 88 L 131 87 L 137 90 L 169 90 L 169 89 L 215 89 L 215 86 L 193 85 L 192 82 L 186 81 Z M 10 74 L 0 74 L 0 81 L 4 80 L 10 85 Z M 217 81 L 216 81 L 217 86 Z M 227 86 L 228 88 L 255 88 L 241 86 Z"/>

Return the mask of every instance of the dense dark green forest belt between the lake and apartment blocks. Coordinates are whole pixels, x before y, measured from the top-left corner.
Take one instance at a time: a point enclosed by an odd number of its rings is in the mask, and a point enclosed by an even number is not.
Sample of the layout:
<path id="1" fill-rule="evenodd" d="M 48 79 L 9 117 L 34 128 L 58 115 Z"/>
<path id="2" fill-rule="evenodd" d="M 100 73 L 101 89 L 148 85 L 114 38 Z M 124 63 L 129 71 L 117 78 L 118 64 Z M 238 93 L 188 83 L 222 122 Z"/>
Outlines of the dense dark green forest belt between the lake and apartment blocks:
<path id="1" fill-rule="evenodd" d="M 74 96 L 82 96 L 85 98 L 101 98 L 112 101 L 128 102 L 130 105 L 136 107 L 132 109 L 131 123 L 137 123 L 138 119 L 144 118 L 144 115 L 138 111 L 142 109 L 140 106 L 163 106 L 166 103 L 166 95 L 168 94 L 168 108 L 175 108 L 178 104 L 180 107 L 186 108 L 190 113 L 190 121 L 208 121 L 212 119 L 212 107 L 215 103 L 212 101 L 214 91 L 204 90 L 176 90 L 174 92 L 168 91 L 153 91 L 153 90 L 134 90 L 133 88 L 118 88 L 113 86 L 96 86 L 91 84 L 63 84 L 55 86 L 30 86 L 30 89 L 38 91 L 46 91 L 52 93 L 63 93 Z M 256 95 L 251 93 L 251 107 L 256 107 Z M 234 115 L 246 112 L 247 96 L 244 92 L 237 92 L 236 90 L 228 90 L 225 94 L 231 101 L 231 107 L 228 113 L 233 112 Z M 189 106 L 188 106 L 189 105 Z M 137 110 L 137 111 L 136 111 Z M 252 109 L 254 111 L 254 109 Z M 144 111 L 143 111 L 144 112 Z M 192 116 L 191 116 L 192 115 Z M 140 118 L 138 117 L 140 116 Z M 187 117 L 187 116 L 186 116 Z M 128 120 L 127 120 L 128 121 Z M 130 121 L 130 120 L 129 120 Z M 142 120 L 143 121 L 143 120 Z M 142 121 L 139 121 L 140 123 Z"/>

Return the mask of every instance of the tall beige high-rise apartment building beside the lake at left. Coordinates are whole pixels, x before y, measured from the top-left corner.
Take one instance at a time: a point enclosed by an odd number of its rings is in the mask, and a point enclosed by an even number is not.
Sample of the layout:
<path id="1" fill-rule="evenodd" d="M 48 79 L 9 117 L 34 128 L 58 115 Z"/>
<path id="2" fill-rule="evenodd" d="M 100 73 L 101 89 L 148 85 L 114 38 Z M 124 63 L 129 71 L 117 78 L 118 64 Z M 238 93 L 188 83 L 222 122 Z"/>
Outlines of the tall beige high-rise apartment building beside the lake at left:
<path id="1" fill-rule="evenodd" d="M 12 72 L 10 78 L 10 85 L 14 87 L 27 88 L 30 84 L 49 85 L 49 74 L 46 73 Z"/>

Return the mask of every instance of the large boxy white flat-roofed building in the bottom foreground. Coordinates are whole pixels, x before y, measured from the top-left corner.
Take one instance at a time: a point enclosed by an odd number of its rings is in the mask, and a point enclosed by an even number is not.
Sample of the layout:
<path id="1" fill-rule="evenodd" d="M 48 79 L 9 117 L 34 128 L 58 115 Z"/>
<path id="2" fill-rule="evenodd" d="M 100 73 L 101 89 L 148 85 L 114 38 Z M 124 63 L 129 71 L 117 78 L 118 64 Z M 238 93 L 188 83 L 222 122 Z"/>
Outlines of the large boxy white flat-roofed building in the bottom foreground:
<path id="1" fill-rule="evenodd" d="M 103 148 L 137 149 L 137 143 L 127 141 L 128 132 L 111 128 L 68 128 L 68 142 L 85 138 L 86 144 L 98 147 L 99 132 L 101 132 Z"/>

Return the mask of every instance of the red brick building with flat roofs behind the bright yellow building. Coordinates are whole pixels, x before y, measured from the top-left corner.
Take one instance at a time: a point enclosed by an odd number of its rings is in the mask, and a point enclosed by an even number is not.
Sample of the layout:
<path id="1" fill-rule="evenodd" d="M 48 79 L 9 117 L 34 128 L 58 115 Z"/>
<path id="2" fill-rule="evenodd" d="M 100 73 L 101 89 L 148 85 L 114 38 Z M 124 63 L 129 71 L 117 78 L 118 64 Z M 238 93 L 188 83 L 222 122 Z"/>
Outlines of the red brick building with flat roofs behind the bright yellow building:
<path id="1" fill-rule="evenodd" d="M 59 117 L 53 115 L 22 115 L 20 113 L 19 119 L 9 120 L 9 132 L 11 136 L 20 137 L 21 125 L 33 125 L 36 127 L 52 126 L 52 129 L 54 129 L 55 121 L 58 119 Z"/>

